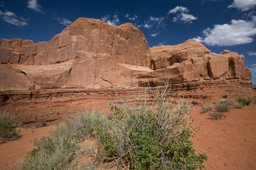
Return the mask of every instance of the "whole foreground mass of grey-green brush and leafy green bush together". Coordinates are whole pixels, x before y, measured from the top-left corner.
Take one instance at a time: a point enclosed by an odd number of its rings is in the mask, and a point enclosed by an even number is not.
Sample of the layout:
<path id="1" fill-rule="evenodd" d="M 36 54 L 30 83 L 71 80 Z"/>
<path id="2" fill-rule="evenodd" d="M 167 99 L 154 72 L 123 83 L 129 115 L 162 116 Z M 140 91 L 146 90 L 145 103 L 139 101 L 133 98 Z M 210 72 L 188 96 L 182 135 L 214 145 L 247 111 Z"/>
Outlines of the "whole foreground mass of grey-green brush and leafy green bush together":
<path id="1" fill-rule="evenodd" d="M 70 118 L 49 137 L 35 142 L 21 169 L 75 169 L 81 150 L 78 143 L 97 140 L 95 162 L 128 169 L 203 169 L 206 154 L 196 154 L 190 137 L 191 105 L 181 99 L 174 111 L 166 102 L 169 90 L 152 90 L 154 105 L 146 101 L 111 106 L 112 115 L 98 112 Z M 146 95 L 146 94 L 145 94 Z M 121 101 L 121 100 L 120 100 Z"/>

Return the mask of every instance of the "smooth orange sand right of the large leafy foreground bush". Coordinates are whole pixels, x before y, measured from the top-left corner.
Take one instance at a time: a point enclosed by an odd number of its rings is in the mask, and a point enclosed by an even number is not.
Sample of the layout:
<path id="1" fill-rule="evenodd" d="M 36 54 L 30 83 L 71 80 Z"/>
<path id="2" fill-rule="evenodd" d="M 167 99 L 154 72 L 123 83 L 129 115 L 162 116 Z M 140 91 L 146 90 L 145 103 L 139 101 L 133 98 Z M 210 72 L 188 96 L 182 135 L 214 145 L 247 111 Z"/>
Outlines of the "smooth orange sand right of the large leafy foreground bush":
<path id="1" fill-rule="evenodd" d="M 193 108 L 193 126 L 199 127 L 193 137 L 196 152 L 206 153 L 206 169 L 255 169 L 256 104 L 233 108 L 223 120 L 210 120 L 201 107 Z"/>

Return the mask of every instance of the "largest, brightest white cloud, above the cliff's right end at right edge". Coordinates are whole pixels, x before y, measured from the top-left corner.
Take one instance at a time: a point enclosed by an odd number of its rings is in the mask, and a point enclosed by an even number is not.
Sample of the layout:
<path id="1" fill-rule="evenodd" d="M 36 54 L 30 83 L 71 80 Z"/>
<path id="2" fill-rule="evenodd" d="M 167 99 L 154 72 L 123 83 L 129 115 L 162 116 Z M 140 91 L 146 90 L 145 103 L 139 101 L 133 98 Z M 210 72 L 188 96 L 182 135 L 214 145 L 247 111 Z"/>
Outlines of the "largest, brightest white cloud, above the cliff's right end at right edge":
<path id="1" fill-rule="evenodd" d="M 193 38 L 207 45 L 231 46 L 247 44 L 253 41 L 256 35 L 256 21 L 232 20 L 230 24 L 215 25 L 212 29 L 203 30 L 204 38 Z"/>

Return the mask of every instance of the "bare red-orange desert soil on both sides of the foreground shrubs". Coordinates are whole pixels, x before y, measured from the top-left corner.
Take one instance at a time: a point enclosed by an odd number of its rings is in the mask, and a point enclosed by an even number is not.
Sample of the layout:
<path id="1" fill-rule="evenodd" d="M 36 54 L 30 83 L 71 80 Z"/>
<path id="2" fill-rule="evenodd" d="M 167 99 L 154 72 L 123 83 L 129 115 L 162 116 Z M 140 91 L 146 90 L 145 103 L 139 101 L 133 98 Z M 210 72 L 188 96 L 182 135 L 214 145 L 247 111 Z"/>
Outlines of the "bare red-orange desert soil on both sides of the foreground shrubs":
<path id="1" fill-rule="evenodd" d="M 206 169 L 255 169 L 256 104 L 251 103 L 250 106 L 244 106 L 241 109 L 232 108 L 225 113 L 226 118 L 221 120 L 211 120 L 208 113 L 202 114 L 200 105 L 206 104 L 214 107 L 213 103 L 223 99 L 223 94 L 227 94 L 228 99 L 235 100 L 240 96 L 256 96 L 256 91 L 237 86 L 208 86 L 191 91 L 180 91 L 179 94 L 185 96 L 188 101 L 198 103 L 198 106 L 193 106 L 191 115 L 193 127 L 199 130 L 192 140 L 196 152 L 206 153 L 209 157 L 205 163 Z M 198 98 L 198 96 L 207 97 Z M 82 104 L 82 101 L 79 102 Z M 107 103 L 105 101 L 104 107 Z M 75 103 L 69 103 L 70 105 L 75 106 Z M 95 102 L 95 105 L 99 106 L 98 102 Z M 93 102 L 90 103 L 90 107 L 92 106 L 94 106 Z M 102 105 L 99 107 L 100 111 L 104 110 Z M 105 113 L 108 109 L 105 109 Z M 21 128 L 20 139 L 0 145 L 0 169 L 13 163 L 14 160 L 20 161 L 26 152 L 33 149 L 34 138 L 48 135 L 54 128 L 55 125 L 36 129 Z"/>

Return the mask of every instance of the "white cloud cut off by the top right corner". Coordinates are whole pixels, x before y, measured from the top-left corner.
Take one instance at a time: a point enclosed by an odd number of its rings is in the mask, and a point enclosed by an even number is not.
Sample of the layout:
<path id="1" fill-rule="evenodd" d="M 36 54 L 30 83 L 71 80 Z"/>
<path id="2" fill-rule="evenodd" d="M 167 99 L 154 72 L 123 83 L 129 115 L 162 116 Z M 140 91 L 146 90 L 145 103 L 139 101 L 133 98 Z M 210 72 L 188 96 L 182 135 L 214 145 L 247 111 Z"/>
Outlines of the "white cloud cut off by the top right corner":
<path id="1" fill-rule="evenodd" d="M 255 0 L 234 0 L 228 8 L 238 8 L 241 11 L 248 11 L 256 6 Z"/>

